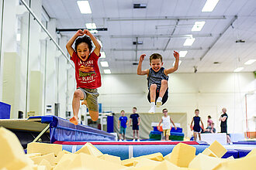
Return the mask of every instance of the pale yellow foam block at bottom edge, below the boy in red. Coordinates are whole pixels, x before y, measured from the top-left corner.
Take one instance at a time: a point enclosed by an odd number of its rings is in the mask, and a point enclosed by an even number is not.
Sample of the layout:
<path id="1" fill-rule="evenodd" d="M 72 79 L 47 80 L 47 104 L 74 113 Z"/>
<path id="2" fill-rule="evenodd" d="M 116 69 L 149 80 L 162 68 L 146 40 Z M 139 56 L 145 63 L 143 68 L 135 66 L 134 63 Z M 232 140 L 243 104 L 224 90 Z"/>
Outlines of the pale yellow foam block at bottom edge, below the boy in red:
<path id="1" fill-rule="evenodd" d="M 74 158 L 73 161 L 71 161 L 71 164 L 68 165 L 65 169 L 122 169 L 126 168 L 122 165 L 117 165 L 116 163 L 109 162 L 106 160 L 102 160 L 100 158 L 97 158 L 93 155 L 88 155 L 84 153 L 78 154 Z"/>

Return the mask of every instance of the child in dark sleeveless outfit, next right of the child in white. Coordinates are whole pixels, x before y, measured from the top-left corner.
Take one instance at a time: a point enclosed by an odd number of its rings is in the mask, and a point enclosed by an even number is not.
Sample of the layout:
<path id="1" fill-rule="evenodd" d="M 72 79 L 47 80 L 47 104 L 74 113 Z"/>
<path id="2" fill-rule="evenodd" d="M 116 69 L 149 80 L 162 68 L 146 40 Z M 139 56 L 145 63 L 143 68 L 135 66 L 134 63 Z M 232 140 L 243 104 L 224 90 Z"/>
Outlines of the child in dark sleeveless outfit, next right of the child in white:
<path id="1" fill-rule="evenodd" d="M 193 132 L 194 141 L 196 141 L 197 134 L 199 134 L 199 141 L 201 141 L 200 121 L 201 121 L 201 124 L 202 124 L 201 117 L 199 117 L 199 110 L 195 109 L 195 116 L 192 118 L 192 122 L 190 124 L 191 131 L 194 131 Z M 194 127 L 192 126 L 193 122 L 194 122 Z M 202 130 L 205 131 L 204 128 L 203 128 L 203 124 L 202 124 Z"/>

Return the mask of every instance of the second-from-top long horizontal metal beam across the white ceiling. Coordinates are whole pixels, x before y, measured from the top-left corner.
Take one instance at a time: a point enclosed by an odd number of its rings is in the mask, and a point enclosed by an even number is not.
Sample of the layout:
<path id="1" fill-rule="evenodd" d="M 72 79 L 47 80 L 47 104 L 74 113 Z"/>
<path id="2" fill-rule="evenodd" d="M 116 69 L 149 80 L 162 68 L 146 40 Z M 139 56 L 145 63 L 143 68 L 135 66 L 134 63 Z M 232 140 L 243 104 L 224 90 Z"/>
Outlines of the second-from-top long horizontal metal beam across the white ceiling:
<path id="1" fill-rule="evenodd" d="M 213 36 L 213 34 L 176 34 L 176 35 L 170 35 L 170 34 L 159 34 L 159 35 L 127 35 L 127 36 L 110 36 L 110 38 L 113 39 L 135 39 L 135 38 L 192 38 L 192 37 L 210 37 Z"/>

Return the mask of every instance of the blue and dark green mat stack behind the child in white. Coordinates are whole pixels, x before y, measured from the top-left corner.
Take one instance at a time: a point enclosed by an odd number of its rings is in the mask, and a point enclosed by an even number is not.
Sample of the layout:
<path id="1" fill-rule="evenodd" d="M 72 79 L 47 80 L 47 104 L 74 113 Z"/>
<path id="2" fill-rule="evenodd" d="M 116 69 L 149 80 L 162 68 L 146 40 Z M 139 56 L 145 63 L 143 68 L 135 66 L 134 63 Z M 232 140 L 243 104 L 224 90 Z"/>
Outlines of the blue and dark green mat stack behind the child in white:
<path id="1" fill-rule="evenodd" d="M 157 127 L 153 127 L 154 130 L 150 131 L 149 140 L 150 141 L 158 141 L 161 140 L 161 131 L 158 131 Z M 182 128 L 171 128 L 171 135 L 169 137 L 171 141 L 183 141 L 184 133 L 182 133 Z"/>

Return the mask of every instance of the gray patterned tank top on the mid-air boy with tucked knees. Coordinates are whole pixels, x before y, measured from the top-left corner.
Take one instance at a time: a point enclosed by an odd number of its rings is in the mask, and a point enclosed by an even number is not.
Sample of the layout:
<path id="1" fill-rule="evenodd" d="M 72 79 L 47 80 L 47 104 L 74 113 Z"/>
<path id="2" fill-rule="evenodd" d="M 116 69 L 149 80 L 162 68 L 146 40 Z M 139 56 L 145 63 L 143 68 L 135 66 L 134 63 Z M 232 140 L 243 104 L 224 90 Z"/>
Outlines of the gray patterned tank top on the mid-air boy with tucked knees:
<path id="1" fill-rule="evenodd" d="M 161 87 L 161 80 L 168 80 L 169 76 L 166 76 L 164 74 L 164 67 L 161 67 L 161 69 L 158 72 L 155 72 L 152 68 L 150 68 L 150 72 L 147 76 L 147 86 L 148 89 L 150 89 L 150 85 L 155 83 L 157 84 L 157 89 L 160 89 Z"/>

